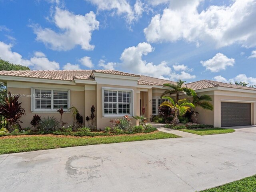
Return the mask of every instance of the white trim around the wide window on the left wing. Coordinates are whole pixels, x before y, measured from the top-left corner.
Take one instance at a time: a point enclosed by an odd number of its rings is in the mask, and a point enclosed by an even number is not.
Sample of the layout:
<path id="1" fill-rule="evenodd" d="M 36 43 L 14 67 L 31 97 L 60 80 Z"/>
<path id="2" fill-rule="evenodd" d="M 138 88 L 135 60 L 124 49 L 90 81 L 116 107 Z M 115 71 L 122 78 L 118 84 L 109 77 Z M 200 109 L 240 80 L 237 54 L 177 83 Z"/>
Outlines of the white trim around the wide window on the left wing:
<path id="1" fill-rule="evenodd" d="M 52 91 L 52 98 L 51 98 L 51 109 L 36 109 L 36 98 L 34 97 L 35 95 L 35 90 L 51 90 Z M 59 90 L 59 91 L 68 91 L 68 109 L 70 108 L 70 89 L 56 89 L 56 88 L 42 88 L 42 87 L 32 87 L 31 88 L 31 111 L 32 112 L 56 112 L 57 109 L 53 108 L 53 91 L 54 90 Z M 70 110 L 64 109 L 66 112 L 70 112 Z M 56 112 L 57 113 L 57 112 Z"/>

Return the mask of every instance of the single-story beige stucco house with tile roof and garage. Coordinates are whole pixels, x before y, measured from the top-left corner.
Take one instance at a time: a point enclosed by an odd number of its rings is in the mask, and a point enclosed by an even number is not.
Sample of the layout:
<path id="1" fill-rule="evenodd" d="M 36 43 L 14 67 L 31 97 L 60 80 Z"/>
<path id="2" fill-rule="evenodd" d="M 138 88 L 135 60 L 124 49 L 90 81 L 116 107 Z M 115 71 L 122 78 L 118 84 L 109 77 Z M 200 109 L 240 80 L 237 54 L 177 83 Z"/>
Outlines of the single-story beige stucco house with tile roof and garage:
<path id="1" fill-rule="evenodd" d="M 19 101 L 26 111 L 22 127 L 29 127 L 34 114 L 41 117 L 55 116 L 59 108 L 64 122 L 72 124 L 68 108 L 75 106 L 84 117 L 90 115 L 90 107 L 96 107 L 95 126 L 103 129 L 110 120 L 140 115 L 142 106 L 146 117 L 158 114 L 163 101 L 160 95 L 167 88 L 168 80 L 116 70 L 38 70 L 0 71 L 11 94 L 20 95 Z M 198 95 L 212 97 L 213 111 L 198 108 L 198 122 L 215 127 L 256 125 L 256 88 L 200 80 L 184 84 Z M 133 120 L 135 123 L 135 120 Z"/>

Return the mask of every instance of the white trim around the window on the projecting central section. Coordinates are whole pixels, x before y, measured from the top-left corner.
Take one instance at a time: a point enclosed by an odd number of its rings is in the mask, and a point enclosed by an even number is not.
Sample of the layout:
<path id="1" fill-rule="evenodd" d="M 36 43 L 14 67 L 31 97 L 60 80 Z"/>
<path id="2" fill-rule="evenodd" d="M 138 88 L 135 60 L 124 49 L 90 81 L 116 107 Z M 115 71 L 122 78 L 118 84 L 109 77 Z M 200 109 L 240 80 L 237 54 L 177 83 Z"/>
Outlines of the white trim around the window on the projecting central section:
<path id="1" fill-rule="evenodd" d="M 105 115 L 104 113 L 104 91 L 129 91 L 131 92 L 131 102 L 130 102 L 130 114 L 127 114 L 129 116 L 133 116 L 134 114 L 134 90 L 133 89 L 127 89 L 127 88 L 113 88 L 113 87 L 102 87 L 102 117 L 103 118 L 114 118 L 114 117 L 123 117 L 125 114 L 118 114 L 118 102 L 117 102 L 117 108 L 116 112 L 117 114 L 111 114 L 111 115 Z M 117 93 L 117 101 L 118 101 L 118 93 Z"/>

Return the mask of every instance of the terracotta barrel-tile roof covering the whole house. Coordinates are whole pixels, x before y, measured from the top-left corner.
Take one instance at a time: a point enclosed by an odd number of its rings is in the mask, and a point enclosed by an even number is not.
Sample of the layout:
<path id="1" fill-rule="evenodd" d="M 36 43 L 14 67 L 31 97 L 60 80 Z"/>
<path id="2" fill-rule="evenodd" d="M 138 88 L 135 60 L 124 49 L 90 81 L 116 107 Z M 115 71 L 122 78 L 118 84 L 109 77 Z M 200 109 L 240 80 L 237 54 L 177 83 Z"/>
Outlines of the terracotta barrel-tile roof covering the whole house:
<path id="1" fill-rule="evenodd" d="M 31 71 L 0 71 L 0 75 L 3 76 L 14 76 L 14 77 L 26 77 L 26 78 L 42 78 L 42 79 L 52 79 L 52 80 L 66 80 L 73 81 L 74 79 L 80 80 L 94 80 L 92 73 L 105 73 L 105 74 L 114 74 L 114 75 L 123 75 L 123 76 L 133 76 L 140 77 L 138 80 L 139 85 L 158 85 L 162 86 L 166 83 L 175 84 L 176 82 L 144 76 L 136 75 L 126 72 L 120 72 L 116 70 L 31 70 Z M 200 90 L 205 88 L 212 87 L 226 87 L 226 88 L 238 88 L 244 90 L 254 90 L 256 88 L 234 85 L 229 83 L 222 83 L 212 80 L 200 80 L 192 83 L 184 84 L 185 87 L 192 88 L 194 90 Z"/>

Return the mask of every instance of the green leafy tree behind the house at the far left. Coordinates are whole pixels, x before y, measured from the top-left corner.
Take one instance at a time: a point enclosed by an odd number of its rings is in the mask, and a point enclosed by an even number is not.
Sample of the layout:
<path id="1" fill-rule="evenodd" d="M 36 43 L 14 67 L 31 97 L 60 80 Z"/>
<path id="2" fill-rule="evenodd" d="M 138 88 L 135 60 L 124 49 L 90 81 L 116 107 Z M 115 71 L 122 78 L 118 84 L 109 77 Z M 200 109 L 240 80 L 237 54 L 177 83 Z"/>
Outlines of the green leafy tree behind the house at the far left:
<path id="1" fill-rule="evenodd" d="M 19 64 L 12 64 L 0 58 L 0 71 L 18 71 L 18 70 L 30 70 L 30 68 L 23 65 L 19 65 Z M 0 85 L 0 102 L 4 101 L 6 94 L 7 94 L 6 86 Z"/>

